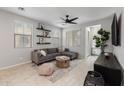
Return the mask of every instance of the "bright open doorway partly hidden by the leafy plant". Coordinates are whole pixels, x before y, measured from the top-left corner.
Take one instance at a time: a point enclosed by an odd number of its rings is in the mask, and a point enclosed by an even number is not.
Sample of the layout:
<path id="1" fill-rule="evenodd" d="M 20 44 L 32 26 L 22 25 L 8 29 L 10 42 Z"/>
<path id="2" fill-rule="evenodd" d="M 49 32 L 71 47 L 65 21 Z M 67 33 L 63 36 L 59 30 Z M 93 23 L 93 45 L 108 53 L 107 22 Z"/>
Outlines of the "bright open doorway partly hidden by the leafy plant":
<path id="1" fill-rule="evenodd" d="M 96 42 L 93 40 L 94 35 L 98 35 L 97 32 L 101 28 L 101 25 L 93 25 L 86 27 L 85 33 L 85 57 L 97 56 L 101 53 L 101 49 L 96 47 Z"/>

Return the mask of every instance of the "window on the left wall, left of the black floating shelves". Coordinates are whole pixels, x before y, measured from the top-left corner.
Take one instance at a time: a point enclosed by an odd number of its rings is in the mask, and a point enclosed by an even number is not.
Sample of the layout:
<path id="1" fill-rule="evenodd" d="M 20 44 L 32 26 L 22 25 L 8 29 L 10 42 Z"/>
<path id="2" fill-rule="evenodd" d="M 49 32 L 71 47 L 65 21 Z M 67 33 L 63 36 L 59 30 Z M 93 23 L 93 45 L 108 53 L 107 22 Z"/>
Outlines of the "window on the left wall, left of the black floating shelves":
<path id="1" fill-rule="evenodd" d="M 25 22 L 15 22 L 15 48 L 32 47 L 33 25 Z"/>

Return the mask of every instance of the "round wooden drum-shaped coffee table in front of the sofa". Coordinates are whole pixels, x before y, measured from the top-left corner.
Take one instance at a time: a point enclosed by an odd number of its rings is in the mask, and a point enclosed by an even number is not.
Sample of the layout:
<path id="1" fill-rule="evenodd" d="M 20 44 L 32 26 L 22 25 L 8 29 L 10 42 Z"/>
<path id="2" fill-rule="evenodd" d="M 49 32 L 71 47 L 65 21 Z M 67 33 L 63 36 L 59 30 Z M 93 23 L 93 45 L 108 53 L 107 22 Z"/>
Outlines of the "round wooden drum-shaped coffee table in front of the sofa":
<path id="1" fill-rule="evenodd" d="M 56 66 L 59 68 L 69 67 L 70 58 L 68 56 L 57 56 L 56 57 Z"/>

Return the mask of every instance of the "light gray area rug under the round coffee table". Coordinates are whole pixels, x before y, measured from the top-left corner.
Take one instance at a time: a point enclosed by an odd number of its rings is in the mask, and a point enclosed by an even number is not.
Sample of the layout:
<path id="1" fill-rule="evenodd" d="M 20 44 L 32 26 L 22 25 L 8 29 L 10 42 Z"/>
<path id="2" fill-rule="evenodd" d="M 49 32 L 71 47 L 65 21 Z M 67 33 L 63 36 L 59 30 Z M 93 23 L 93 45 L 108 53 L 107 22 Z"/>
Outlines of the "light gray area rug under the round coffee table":
<path id="1" fill-rule="evenodd" d="M 55 72 L 51 76 L 45 76 L 45 78 L 54 83 L 64 77 L 66 74 L 68 74 L 75 67 L 77 67 L 79 63 L 79 60 L 73 60 L 70 61 L 70 66 L 68 68 L 58 68 L 55 66 Z M 53 62 L 53 64 L 56 65 L 56 62 Z"/>

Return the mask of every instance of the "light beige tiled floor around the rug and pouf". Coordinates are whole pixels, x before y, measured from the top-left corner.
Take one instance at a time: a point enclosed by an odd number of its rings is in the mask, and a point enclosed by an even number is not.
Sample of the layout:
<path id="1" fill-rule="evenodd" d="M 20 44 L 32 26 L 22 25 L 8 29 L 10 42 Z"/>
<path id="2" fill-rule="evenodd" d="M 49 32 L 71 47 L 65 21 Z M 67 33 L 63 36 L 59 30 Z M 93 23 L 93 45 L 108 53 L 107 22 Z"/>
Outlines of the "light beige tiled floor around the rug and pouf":
<path id="1" fill-rule="evenodd" d="M 86 74 L 93 69 L 93 62 L 97 57 L 89 57 L 88 59 L 78 59 L 79 64 L 65 74 L 56 82 L 51 82 L 44 76 L 39 76 L 32 63 L 16 66 L 13 68 L 0 71 L 0 85 L 72 85 L 82 86 Z"/>

